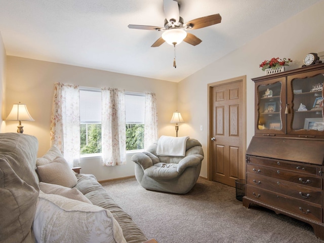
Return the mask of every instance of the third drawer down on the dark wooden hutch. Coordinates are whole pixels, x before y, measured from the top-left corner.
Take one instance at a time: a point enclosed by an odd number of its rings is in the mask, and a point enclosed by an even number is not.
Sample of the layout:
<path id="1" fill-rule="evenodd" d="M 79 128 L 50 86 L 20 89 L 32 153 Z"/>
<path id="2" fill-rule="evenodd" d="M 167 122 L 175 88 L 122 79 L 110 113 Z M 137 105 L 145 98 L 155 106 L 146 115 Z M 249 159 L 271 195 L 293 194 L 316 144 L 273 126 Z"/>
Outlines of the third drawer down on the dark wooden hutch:
<path id="1" fill-rule="evenodd" d="M 266 189 L 280 194 L 285 194 L 297 199 L 309 201 L 321 206 L 322 191 L 319 189 L 312 189 L 307 186 L 298 185 L 295 183 L 276 180 L 269 177 L 259 176 L 255 174 L 247 174 L 247 184 L 253 185 L 260 189 Z"/>

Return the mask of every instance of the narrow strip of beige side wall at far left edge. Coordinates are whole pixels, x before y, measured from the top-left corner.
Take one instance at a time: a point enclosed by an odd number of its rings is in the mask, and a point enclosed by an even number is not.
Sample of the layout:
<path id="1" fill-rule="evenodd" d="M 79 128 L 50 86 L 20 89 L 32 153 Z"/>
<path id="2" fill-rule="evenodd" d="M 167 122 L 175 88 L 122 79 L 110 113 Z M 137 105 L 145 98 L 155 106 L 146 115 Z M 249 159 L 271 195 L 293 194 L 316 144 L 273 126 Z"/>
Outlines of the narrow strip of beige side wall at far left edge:
<path id="1" fill-rule="evenodd" d="M 4 42 L 2 39 L 2 35 L 0 32 L 0 132 L 2 132 L 2 130 L 4 129 L 3 123 L 5 123 L 3 121 L 3 101 L 5 99 L 5 94 L 4 94 L 4 90 L 5 90 L 5 71 L 6 71 L 6 50 L 5 50 L 5 46 L 4 46 Z M 4 118 L 5 119 L 5 118 Z"/>

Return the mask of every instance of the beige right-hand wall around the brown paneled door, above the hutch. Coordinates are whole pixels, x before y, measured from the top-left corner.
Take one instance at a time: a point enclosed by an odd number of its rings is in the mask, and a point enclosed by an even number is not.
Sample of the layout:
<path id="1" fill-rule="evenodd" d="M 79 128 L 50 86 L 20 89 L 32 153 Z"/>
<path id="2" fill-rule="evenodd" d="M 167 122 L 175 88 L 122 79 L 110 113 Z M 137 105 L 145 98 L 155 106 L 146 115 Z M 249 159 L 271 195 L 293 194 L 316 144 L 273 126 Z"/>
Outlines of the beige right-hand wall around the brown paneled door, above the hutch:
<path id="1" fill-rule="evenodd" d="M 233 51 L 220 60 L 185 78 L 178 87 L 178 109 L 183 114 L 190 137 L 198 139 L 205 151 L 200 175 L 208 176 L 208 99 L 207 85 L 221 80 L 247 75 L 247 146 L 254 135 L 254 83 L 251 78 L 263 76 L 259 64 L 272 57 L 291 58 L 288 67 L 302 66 L 307 53 L 324 51 L 324 1 L 293 16 L 245 46 Z M 199 127 L 203 125 L 204 130 Z"/>

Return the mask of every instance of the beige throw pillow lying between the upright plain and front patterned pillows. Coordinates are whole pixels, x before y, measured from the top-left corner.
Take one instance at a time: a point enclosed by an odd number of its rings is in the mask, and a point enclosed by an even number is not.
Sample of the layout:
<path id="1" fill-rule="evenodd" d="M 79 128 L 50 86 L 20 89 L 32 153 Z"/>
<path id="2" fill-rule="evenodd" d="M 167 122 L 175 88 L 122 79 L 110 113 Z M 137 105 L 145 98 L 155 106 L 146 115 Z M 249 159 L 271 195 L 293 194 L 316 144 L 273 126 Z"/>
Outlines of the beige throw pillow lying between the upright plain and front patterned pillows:
<path id="1" fill-rule="evenodd" d="M 69 188 L 69 187 L 60 186 L 60 185 L 39 182 L 39 189 L 46 194 L 61 195 L 61 196 L 65 196 L 70 199 L 83 201 L 84 203 L 92 204 L 91 201 L 75 187 Z"/>

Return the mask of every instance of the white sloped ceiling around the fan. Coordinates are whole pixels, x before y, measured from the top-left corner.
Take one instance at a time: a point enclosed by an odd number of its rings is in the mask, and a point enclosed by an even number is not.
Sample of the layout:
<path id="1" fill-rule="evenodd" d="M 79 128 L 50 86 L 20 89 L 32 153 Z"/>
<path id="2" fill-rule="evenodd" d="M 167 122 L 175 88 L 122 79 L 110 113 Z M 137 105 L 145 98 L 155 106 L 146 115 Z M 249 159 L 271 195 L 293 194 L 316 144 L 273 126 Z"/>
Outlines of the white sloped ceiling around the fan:
<path id="1" fill-rule="evenodd" d="M 179 0 L 184 22 L 219 13 L 222 22 L 190 32 L 197 46 L 150 47 L 164 26 L 163 0 L 0 0 L 9 56 L 179 82 L 320 0 Z"/>

